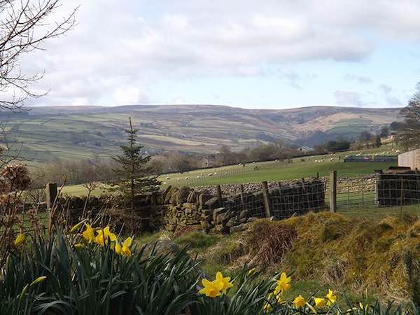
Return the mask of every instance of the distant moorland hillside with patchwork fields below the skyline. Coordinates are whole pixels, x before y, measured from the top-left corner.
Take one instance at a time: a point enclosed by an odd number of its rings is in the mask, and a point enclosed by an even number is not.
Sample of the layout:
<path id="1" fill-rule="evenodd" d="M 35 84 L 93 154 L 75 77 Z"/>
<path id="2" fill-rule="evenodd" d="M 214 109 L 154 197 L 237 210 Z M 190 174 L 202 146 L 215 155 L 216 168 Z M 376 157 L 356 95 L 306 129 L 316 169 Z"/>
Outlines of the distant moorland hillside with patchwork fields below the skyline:
<path id="1" fill-rule="evenodd" d="M 400 109 L 312 106 L 253 110 L 213 105 L 54 106 L 27 113 L 0 113 L 15 148 L 36 162 L 54 158 L 110 156 L 124 141 L 132 116 L 140 141 L 151 151 L 215 152 L 280 139 L 312 145 L 335 137 L 356 137 L 398 120 Z M 299 141 L 300 139 L 300 141 Z M 297 141 L 297 142 L 296 142 Z"/>

